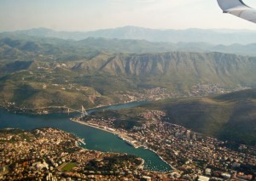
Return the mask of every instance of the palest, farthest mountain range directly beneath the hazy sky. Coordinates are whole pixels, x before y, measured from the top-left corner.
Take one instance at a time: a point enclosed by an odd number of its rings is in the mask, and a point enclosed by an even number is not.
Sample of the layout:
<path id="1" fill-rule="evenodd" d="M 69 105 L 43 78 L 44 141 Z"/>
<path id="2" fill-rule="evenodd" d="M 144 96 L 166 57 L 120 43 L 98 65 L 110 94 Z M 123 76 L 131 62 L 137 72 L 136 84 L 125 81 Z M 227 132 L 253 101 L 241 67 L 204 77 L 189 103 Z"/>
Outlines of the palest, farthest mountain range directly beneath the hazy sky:
<path id="1" fill-rule="evenodd" d="M 34 37 L 56 37 L 61 39 L 83 40 L 87 37 L 104 37 L 118 39 L 147 40 L 150 42 L 206 42 L 211 44 L 230 45 L 233 43 L 250 44 L 256 42 L 256 31 L 234 30 L 154 30 L 136 26 L 125 26 L 87 32 L 53 31 L 46 28 L 36 28 L 26 31 L 1 33 L 7 35 L 26 35 Z"/>

